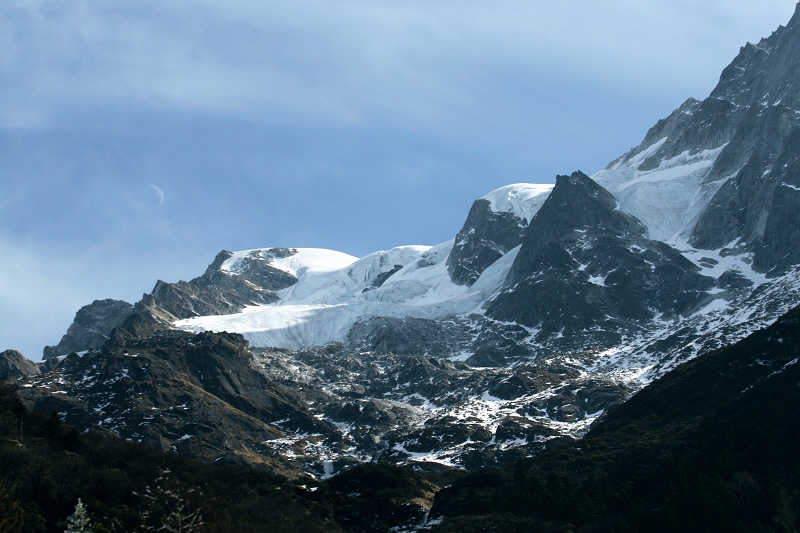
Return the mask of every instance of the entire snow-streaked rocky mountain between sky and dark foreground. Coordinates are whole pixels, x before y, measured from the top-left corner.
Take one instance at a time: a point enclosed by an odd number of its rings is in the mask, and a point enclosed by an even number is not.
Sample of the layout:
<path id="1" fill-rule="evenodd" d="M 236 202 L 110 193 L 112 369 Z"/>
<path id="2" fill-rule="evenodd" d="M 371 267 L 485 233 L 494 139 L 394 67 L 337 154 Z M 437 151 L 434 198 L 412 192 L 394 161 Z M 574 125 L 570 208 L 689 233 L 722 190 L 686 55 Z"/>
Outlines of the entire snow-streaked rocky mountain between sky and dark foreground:
<path id="1" fill-rule="evenodd" d="M 223 251 L 135 305 L 95 302 L 25 393 L 129 438 L 322 475 L 368 459 L 480 467 L 580 436 L 797 304 L 798 64 L 800 11 L 605 170 L 493 191 L 451 241 Z M 163 361 L 185 409 L 154 392 Z M 224 417 L 208 395 L 258 423 L 211 438 Z"/>

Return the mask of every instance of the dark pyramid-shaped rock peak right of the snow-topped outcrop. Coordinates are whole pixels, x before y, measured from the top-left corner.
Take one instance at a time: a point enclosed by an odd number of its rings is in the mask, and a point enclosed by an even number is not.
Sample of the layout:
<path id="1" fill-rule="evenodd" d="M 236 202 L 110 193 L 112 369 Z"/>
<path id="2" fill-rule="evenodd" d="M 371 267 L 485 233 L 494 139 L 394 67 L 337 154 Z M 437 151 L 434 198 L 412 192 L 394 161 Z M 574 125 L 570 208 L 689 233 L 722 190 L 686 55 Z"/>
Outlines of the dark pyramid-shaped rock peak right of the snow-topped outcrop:
<path id="1" fill-rule="evenodd" d="M 615 332 L 657 313 L 692 310 L 713 281 L 645 231 L 585 174 L 559 176 L 509 272 L 512 290 L 491 302 L 488 314 L 541 335 L 594 330 L 595 338 L 613 341 Z"/>

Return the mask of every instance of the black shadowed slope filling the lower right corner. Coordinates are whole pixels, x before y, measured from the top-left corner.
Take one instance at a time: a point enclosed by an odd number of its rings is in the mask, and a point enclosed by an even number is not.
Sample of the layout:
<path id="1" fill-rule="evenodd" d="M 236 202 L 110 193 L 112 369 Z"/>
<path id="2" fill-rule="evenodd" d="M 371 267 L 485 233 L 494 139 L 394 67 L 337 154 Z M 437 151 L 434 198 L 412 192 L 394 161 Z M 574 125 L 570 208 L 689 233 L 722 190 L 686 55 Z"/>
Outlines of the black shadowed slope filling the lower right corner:
<path id="1" fill-rule="evenodd" d="M 434 531 L 798 531 L 800 308 L 686 363 L 581 441 L 473 473 Z"/>

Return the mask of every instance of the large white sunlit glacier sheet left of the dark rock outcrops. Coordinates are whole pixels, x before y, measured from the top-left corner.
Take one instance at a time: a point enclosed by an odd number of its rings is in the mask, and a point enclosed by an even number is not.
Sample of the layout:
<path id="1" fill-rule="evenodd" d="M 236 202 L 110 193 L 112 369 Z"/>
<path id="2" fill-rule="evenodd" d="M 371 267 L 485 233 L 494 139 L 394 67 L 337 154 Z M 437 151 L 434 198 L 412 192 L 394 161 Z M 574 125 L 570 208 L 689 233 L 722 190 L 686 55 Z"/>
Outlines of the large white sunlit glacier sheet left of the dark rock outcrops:
<path id="1" fill-rule="evenodd" d="M 275 260 L 298 278 L 279 291 L 281 300 L 250 306 L 232 315 L 201 316 L 180 320 L 188 331 L 241 333 L 254 346 L 298 349 L 342 342 L 358 320 L 370 317 L 441 319 L 472 312 L 503 284 L 518 248 L 484 271 L 471 286 L 456 285 L 447 273 L 447 256 L 453 241 L 434 246 L 403 246 L 376 252 L 347 263 L 345 254 L 328 250 L 298 249 L 297 257 Z M 229 259 L 231 270 L 240 254 Z M 319 261 L 319 262 L 317 262 Z M 345 264 L 332 268 L 335 261 Z M 380 287 L 378 276 L 401 268 Z"/>

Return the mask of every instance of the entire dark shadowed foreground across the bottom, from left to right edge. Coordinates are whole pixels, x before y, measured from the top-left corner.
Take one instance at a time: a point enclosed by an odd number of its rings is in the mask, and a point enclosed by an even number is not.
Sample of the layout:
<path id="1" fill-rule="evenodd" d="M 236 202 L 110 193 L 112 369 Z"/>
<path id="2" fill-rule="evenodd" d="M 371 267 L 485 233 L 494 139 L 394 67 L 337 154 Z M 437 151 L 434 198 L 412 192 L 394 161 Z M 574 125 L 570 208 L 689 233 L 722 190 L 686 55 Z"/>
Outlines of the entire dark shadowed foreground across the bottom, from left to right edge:
<path id="1" fill-rule="evenodd" d="M 322 482 L 80 433 L 4 385 L 0 526 L 63 531 L 81 498 L 98 532 L 192 514 L 203 524 L 184 531 L 797 531 L 799 361 L 796 308 L 670 372 L 581 441 L 471 474 L 363 464 Z"/>

